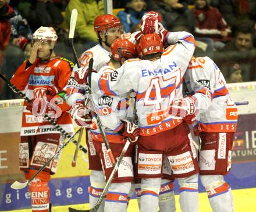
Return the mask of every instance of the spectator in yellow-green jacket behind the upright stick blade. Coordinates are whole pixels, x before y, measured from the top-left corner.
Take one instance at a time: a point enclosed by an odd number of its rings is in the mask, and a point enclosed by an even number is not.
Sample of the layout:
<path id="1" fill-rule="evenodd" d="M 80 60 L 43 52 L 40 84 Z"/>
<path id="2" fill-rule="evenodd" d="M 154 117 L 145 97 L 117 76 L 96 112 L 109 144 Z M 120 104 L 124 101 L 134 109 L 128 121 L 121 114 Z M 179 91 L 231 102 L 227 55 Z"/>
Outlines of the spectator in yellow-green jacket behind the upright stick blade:
<path id="1" fill-rule="evenodd" d="M 84 41 L 93 41 L 91 46 L 97 44 L 97 36 L 94 33 L 93 24 L 98 15 L 104 14 L 102 1 L 70 0 L 65 15 L 68 24 L 70 24 L 71 12 L 74 8 L 76 8 L 78 12 L 76 32 L 79 34 L 79 37 Z"/>

